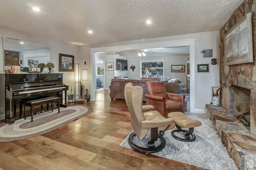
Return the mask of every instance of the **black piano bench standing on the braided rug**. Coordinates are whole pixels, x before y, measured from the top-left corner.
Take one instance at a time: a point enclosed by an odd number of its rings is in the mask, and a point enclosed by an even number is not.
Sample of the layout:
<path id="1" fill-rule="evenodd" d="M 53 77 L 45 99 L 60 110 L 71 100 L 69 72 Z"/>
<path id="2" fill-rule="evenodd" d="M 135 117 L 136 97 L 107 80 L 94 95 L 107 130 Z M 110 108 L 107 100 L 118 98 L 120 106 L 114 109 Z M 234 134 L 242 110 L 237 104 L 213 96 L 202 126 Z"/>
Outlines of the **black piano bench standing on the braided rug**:
<path id="1" fill-rule="evenodd" d="M 33 114 L 34 114 L 34 106 L 42 105 L 43 104 L 49 104 L 51 103 L 51 111 L 53 112 L 53 102 L 57 101 L 58 106 L 58 113 L 60 113 L 60 98 L 59 97 L 45 97 L 40 99 L 34 99 L 34 100 L 28 100 L 24 102 L 24 119 L 26 120 L 26 106 L 30 107 L 30 113 L 31 113 L 31 122 L 33 122 Z"/>

